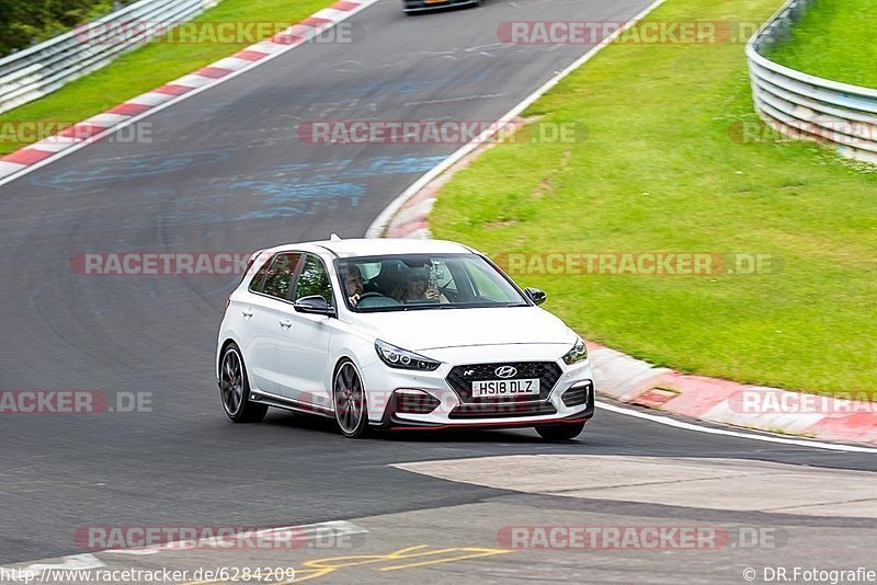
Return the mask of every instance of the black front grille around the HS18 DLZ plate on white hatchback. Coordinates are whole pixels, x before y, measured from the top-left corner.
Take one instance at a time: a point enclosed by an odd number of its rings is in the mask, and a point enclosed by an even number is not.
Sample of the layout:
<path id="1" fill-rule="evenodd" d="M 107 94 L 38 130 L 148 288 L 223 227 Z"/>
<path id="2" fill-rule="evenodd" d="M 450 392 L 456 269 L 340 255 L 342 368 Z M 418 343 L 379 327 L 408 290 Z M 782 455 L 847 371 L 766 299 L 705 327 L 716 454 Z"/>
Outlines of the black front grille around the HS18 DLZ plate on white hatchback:
<path id="1" fill-rule="evenodd" d="M 512 366 L 517 372 L 509 380 L 524 378 L 539 379 L 539 395 L 491 397 L 472 398 L 472 382 L 477 380 L 499 380 L 496 370 L 502 366 Z M 454 389 L 460 402 L 469 404 L 496 404 L 508 402 L 535 402 L 548 400 L 562 370 L 554 362 L 500 362 L 497 364 L 470 364 L 455 366 L 451 369 L 445 380 Z"/>

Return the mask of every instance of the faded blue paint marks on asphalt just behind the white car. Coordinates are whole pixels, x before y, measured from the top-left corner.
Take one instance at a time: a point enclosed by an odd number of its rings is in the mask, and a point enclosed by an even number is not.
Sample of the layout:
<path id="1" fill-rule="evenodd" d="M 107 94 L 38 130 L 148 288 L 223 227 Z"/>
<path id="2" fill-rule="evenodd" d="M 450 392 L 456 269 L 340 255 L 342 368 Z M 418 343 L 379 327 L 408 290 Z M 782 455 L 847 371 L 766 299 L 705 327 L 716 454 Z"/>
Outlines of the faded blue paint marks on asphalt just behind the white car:
<path id="1" fill-rule="evenodd" d="M 218 225 L 253 219 L 276 219 L 314 215 L 319 210 L 356 208 L 368 195 L 365 180 L 397 174 L 422 174 L 445 157 L 373 157 L 326 162 L 292 162 L 262 169 L 246 179 L 207 183 L 195 187 L 163 188 L 146 194 L 137 179 L 157 174 L 180 174 L 193 167 L 219 165 L 228 158 L 223 151 L 201 151 L 181 157 L 144 157 L 102 161 L 75 170 L 41 173 L 38 181 L 75 194 L 84 190 L 106 193 L 107 205 L 126 205 L 130 214 L 112 225 L 83 216 L 80 231 L 125 231 L 158 226 Z M 130 180 L 130 185 L 126 184 Z M 229 198 L 240 202 L 234 213 L 223 213 Z M 68 222 L 67 211 L 47 214 L 41 221 Z M 2 223 L 2 220 L 0 220 Z M 10 227 L 14 229 L 14 226 Z"/>

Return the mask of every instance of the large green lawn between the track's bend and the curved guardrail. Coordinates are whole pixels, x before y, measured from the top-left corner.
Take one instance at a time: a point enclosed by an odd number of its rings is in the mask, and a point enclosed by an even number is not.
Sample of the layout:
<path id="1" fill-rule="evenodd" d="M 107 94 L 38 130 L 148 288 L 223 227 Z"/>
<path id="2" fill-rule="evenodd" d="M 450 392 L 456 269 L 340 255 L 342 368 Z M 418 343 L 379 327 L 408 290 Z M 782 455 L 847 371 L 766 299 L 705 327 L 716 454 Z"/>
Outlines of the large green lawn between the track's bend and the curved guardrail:
<path id="1" fill-rule="evenodd" d="M 652 21 L 764 22 L 781 0 L 669 0 Z M 687 372 L 877 390 L 877 173 L 811 144 L 743 144 L 742 44 L 613 45 L 525 113 L 590 129 L 506 144 L 444 187 L 434 237 L 523 252 L 759 253 L 756 276 L 545 276 L 596 342 Z"/>

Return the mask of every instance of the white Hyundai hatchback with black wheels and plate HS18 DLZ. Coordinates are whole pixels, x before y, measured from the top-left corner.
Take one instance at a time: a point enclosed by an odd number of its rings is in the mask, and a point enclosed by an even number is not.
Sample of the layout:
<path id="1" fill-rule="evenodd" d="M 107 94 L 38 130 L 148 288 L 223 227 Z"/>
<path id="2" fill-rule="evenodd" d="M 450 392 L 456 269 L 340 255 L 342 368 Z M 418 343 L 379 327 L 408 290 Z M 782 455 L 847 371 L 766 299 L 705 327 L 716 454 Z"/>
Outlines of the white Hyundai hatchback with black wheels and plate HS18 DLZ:
<path id="1" fill-rule="evenodd" d="M 269 406 L 371 427 L 535 427 L 578 436 L 594 412 L 588 351 L 487 256 L 437 240 L 260 250 L 229 296 L 216 372 L 226 414 Z"/>

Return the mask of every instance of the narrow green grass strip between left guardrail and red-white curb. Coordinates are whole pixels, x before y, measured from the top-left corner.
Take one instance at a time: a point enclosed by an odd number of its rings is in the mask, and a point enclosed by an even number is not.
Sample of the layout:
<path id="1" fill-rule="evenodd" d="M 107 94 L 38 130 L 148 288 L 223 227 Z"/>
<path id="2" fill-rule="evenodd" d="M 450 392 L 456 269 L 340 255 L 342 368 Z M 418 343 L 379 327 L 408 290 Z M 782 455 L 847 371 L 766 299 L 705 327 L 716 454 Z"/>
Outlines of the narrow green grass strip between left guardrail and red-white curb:
<path id="1" fill-rule="evenodd" d="M 334 0 L 224 0 L 194 22 L 286 22 L 293 24 L 332 4 Z M 126 100 L 246 48 L 241 44 L 175 44 L 153 42 L 126 54 L 110 66 L 41 100 L 0 114 L 4 123 L 75 124 Z M 9 124 L 5 128 L 11 128 Z M 0 156 L 26 142 L 12 141 L 12 131 L 0 138 Z"/>

